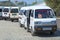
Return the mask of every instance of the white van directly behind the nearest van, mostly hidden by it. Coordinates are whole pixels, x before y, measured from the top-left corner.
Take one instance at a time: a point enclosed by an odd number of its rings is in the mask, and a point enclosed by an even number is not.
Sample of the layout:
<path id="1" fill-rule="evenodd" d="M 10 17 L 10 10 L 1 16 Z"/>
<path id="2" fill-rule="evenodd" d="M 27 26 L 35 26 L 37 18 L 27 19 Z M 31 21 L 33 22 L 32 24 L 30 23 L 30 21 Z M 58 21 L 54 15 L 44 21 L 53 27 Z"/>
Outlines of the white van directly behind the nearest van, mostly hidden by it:
<path id="1" fill-rule="evenodd" d="M 26 19 L 25 12 L 26 12 L 26 10 L 28 10 L 27 7 L 22 7 L 19 12 L 19 25 L 20 25 L 20 27 L 25 26 L 25 19 Z"/>

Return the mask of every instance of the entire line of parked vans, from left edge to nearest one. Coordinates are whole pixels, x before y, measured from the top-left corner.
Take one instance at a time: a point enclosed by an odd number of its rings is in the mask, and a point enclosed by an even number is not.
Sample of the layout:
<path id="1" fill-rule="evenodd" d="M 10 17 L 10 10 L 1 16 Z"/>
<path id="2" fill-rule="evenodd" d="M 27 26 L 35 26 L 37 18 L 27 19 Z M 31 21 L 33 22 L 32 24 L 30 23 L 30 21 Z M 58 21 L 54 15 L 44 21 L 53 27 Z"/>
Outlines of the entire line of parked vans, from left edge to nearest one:
<path id="1" fill-rule="evenodd" d="M 32 35 L 40 32 L 53 34 L 57 30 L 56 16 L 48 6 L 0 7 L 0 19 L 19 20 L 20 27 L 24 27 Z"/>

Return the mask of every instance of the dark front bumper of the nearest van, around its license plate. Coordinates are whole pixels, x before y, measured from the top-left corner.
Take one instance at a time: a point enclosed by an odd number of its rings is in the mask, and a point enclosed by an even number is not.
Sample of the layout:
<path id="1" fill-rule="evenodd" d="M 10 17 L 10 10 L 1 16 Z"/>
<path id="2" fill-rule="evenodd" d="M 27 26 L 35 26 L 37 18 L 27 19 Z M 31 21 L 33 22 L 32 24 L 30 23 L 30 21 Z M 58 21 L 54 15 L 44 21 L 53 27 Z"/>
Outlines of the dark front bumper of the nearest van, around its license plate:
<path id="1" fill-rule="evenodd" d="M 51 28 L 51 29 L 43 29 L 43 28 Z M 57 25 L 50 26 L 35 26 L 35 32 L 55 32 L 57 30 Z"/>

